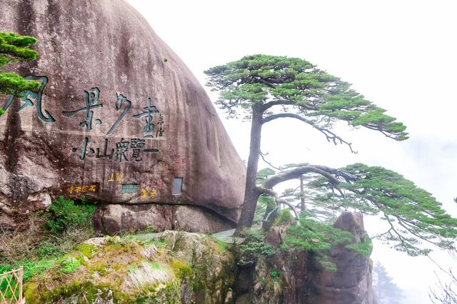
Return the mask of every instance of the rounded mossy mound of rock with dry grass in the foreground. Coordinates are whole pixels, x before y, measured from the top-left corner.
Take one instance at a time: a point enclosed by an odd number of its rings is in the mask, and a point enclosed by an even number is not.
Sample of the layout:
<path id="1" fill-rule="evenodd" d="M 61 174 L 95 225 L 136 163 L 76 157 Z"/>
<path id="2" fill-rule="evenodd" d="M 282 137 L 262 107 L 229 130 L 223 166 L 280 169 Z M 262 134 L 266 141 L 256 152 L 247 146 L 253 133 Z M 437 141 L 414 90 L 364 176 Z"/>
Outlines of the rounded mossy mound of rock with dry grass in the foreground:
<path id="1" fill-rule="evenodd" d="M 224 245 L 182 231 L 94 238 L 45 265 L 27 303 L 230 303 L 235 283 Z"/>

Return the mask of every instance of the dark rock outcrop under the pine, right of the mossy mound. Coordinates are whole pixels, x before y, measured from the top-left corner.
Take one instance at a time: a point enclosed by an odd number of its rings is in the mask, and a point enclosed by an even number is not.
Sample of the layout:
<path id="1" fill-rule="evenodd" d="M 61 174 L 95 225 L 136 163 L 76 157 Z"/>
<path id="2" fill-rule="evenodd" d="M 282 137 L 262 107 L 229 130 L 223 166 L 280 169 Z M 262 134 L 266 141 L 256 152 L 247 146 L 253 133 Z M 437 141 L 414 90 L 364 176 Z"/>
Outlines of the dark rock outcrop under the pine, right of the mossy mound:
<path id="1" fill-rule="evenodd" d="M 333 226 L 351 232 L 355 243 L 368 240 L 361 213 L 344 212 Z M 330 261 L 337 270 L 328 272 L 306 250 L 281 249 L 286 233 L 286 227 L 273 226 L 266 242 L 276 254 L 239 268 L 236 303 L 375 303 L 369 246 L 368 254 L 361 255 L 346 244 L 334 245 Z"/>

